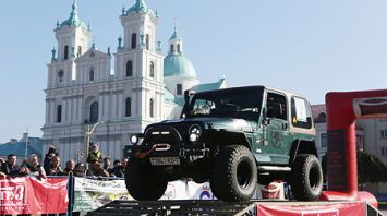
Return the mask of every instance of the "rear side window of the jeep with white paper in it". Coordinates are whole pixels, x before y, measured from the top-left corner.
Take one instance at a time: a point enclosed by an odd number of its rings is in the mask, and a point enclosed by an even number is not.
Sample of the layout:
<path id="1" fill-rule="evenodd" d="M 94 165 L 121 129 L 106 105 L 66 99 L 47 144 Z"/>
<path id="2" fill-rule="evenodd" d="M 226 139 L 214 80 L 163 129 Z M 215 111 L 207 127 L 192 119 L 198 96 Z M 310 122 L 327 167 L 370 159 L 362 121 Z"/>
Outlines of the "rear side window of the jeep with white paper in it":
<path id="1" fill-rule="evenodd" d="M 309 103 L 304 98 L 291 98 L 291 122 L 293 127 L 312 128 L 312 112 Z"/>

